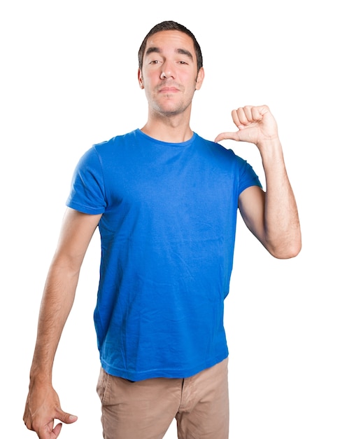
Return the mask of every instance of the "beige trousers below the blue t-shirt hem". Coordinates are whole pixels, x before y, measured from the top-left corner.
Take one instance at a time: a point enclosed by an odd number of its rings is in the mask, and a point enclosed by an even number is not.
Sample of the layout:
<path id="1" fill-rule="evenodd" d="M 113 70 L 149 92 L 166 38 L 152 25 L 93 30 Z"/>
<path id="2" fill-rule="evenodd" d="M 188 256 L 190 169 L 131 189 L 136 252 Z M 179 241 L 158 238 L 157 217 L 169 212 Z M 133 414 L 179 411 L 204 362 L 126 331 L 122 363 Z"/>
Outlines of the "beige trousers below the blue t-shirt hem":
<path id="1" fill-rule="evenodd" d="M 174 418 L 180 439 L 227 439 L 228 359 L 190 378 L 129 381 L 101 369 L 105 439 L 161 439 Z"/>

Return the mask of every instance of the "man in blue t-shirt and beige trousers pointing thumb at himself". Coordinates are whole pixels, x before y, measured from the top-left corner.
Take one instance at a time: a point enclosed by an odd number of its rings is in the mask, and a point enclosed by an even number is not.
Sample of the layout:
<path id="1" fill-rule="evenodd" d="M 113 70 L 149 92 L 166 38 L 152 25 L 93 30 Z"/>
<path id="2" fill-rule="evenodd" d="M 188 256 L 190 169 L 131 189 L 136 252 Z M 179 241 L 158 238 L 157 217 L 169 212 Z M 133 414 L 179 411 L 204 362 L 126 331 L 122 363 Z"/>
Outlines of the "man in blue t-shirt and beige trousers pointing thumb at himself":
<path id="1" fill-rule="evenodd" d="M 43 293 L 24 422 L 57 438 L 76 417 L 52 388 L 52 363 L 95 229 L 101 269 L 94 323 L 101 359 L 97 391 L 106 439 L 226 439 L 229 292 L 236 212 L 277 258 L 301 247 L 295 197 L 276 121 L 267 106 L 232 112 L 236 133 L 215 142 L 190 128 L 204 69 L 194 35 L 176 22 L 150 30 L 139 50 L 148 100 L 141 130 L 94 145 L 76 168 Z M 220 140 L 253 142 L 267 191 Z"/>

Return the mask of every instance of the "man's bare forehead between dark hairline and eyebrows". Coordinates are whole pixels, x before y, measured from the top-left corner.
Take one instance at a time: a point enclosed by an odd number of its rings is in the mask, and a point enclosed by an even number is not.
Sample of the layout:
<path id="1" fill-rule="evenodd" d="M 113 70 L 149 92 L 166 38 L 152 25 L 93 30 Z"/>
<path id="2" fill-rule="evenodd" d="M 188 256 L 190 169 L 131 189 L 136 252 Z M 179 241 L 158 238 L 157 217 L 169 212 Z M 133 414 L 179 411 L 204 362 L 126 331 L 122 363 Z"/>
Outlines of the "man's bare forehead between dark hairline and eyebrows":
<path id="1" fill-rule="evenodd" d="M 191 37 L 178 30 L 164 30 L 151 35 L 146 41 L 144 55 L 148 53 L 150 48 L 157 48 L 160 53 L 171 50 L 176 52 L 178 49 L 184 49 L 191 53 L 192 58 L 195 58 L 194 42 Z"/>

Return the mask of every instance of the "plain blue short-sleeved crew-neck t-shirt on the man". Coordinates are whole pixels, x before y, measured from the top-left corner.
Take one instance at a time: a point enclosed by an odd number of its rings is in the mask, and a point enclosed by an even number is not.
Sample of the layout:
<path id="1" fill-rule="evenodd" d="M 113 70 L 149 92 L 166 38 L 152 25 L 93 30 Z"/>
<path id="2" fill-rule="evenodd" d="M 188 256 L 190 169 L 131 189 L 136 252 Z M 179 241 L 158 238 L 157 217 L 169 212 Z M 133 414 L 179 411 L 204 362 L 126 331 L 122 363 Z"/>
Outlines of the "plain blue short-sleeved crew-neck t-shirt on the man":
<path id="1" fill-rule="evenodd" d="M 102 214 L 94 324 L 106 372 L 184 378 L 228 356 L 238 198 L 253 185 L 246 161 L 196 133 L 168 143 L 137 129 L 83 155 L 66 204 Z"/>

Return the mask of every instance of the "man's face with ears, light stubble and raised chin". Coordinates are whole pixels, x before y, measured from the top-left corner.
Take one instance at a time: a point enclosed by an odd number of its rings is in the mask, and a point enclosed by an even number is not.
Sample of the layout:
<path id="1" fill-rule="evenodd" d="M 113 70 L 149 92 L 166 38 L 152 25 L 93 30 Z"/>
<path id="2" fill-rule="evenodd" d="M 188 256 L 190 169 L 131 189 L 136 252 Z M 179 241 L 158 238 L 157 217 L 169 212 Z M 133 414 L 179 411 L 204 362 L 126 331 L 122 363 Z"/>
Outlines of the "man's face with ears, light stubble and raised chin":
<path id="1" fill-rule="evenodd" d="M 194 43 L 177 30 L 157 32 L 146 43 L 139 84 L 150 109 L 166 116 L 191 107 L 195 90 L 201 88 L 204 70 L 197 72 Z"/>

